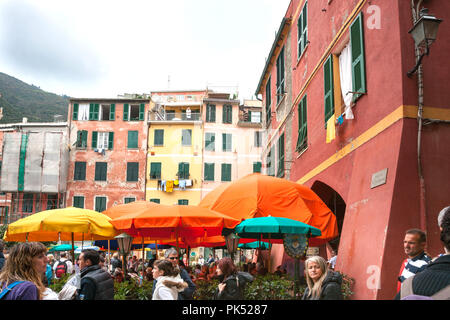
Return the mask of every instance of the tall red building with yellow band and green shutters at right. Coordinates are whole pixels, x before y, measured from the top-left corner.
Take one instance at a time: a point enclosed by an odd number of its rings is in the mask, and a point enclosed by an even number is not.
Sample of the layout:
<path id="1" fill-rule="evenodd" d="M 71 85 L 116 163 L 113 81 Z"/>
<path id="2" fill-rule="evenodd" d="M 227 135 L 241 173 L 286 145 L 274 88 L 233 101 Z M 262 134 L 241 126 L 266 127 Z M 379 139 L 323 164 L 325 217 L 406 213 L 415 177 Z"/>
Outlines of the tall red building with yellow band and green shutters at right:
<path id="1" fill-rule="evenodd" d="M 450 3 L 425 3 L 443 22 L 422 60 L 420 134 L 418 74 L 407 76 L 416 62 L 412 3 L 292 0 L 256 90 L 265 172 L 311 187 L 336 214 L 340 237 L 320 254 L 338 249 L 336 269 L 355 279 L 354 299 L 395 296 L 406 230 L 425 230 L 432 256 L 443 251 L 436 218 L 450 204 Z"/>

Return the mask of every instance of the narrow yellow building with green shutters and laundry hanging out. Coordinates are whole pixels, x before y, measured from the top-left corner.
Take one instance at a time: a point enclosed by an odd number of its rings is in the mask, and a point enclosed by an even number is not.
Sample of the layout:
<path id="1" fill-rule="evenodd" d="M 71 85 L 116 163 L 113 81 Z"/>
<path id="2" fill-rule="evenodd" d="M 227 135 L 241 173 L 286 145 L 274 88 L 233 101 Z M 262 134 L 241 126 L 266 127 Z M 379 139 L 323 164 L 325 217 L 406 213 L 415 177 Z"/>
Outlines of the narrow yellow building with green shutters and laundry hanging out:
<path id="1" fill-rule="evenodd" d="M 203 176 L 202 99 L 205 91 L 152 92 L 146 200 L 196 205 Z"/>

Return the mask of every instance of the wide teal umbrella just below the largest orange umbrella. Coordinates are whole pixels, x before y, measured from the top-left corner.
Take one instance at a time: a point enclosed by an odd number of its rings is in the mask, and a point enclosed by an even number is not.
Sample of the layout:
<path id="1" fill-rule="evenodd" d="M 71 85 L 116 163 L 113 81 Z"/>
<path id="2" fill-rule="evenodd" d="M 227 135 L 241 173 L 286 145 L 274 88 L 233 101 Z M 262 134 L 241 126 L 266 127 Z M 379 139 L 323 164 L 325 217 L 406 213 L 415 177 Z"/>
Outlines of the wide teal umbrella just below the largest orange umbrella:
<path id="1" fill-rule="evenodd" d="M 282 217 L 260 217 L 246 219 L 234 228 L 240 238 L 283 239 L 286 233 L 320 236 L 320 229 L 306 223 Z"/>

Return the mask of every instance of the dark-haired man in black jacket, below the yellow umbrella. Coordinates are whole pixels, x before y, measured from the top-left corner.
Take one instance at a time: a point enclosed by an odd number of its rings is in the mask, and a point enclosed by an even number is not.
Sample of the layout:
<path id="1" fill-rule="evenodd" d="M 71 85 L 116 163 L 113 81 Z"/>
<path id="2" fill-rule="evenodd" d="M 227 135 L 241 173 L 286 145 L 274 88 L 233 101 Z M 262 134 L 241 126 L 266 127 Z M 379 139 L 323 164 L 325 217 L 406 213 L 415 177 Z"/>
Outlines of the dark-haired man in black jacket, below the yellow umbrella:
<path id="1" fill-rule="evenodd" d="M 100 255 L 92 249 L 81 251 L 78 263 L 81 272 L 78 300 L 114 300 L 114 280 L 100 265 Z"/>

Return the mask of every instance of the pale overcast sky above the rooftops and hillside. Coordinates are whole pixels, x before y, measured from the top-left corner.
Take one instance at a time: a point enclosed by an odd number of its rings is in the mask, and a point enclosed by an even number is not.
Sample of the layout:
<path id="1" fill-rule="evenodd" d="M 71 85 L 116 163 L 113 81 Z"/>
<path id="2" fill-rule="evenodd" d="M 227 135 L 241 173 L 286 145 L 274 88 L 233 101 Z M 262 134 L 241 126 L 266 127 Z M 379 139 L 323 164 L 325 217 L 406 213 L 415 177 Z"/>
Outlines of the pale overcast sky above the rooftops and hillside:
<path id="1" fill-rule="evenodd" d="M 0 72 L 71 97 L 219 85 L 249 99 L 288 5 L 0 0 Z"/>

